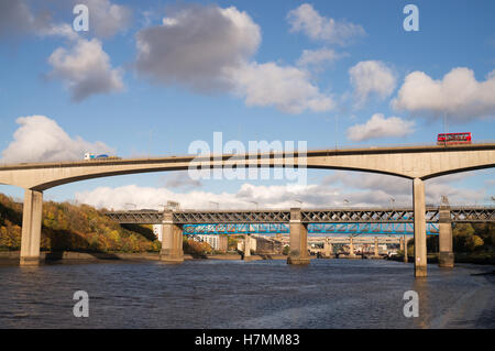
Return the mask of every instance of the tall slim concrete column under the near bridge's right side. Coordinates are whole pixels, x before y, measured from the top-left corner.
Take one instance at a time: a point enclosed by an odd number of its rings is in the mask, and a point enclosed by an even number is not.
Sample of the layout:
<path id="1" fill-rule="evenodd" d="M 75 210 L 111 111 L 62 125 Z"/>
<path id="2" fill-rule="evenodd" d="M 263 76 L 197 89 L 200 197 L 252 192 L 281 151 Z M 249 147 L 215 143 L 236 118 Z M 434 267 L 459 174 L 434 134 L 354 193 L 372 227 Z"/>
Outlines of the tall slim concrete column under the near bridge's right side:
<path id="1" fill-rule="evenodd" d="M 420 178 L 413 180 L 413 204 L 415 209 L 415 276 L 427 276 L 427 245 L 426 245 L 426 204 L 425 182 Z"/>

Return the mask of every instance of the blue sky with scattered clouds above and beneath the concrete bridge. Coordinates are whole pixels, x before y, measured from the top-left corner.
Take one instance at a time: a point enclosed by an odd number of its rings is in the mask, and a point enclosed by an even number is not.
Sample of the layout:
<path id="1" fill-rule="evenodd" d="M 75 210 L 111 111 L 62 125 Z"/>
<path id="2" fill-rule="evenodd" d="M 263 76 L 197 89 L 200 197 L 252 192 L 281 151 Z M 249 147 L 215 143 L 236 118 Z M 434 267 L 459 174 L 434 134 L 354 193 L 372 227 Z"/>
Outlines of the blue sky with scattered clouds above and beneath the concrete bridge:
<path id="1" fill-rule="evenodd" d="M 76 31 L 77 4 L 87 31 Z M 0 164 L 183 155 L 195 141 L 212 147 L 215 132 L 246 149 L 435 144 L 442 132 L 493 141 L 493 13 L 495 2 L 481 0 L 1 1 Z M 494 189 L 493 169 L 426 183 L 429 204 L 493 204 Z M 78 182 L 44 198 L 113 209 L 410 206 L 411 182 L 170 172 Z"/>

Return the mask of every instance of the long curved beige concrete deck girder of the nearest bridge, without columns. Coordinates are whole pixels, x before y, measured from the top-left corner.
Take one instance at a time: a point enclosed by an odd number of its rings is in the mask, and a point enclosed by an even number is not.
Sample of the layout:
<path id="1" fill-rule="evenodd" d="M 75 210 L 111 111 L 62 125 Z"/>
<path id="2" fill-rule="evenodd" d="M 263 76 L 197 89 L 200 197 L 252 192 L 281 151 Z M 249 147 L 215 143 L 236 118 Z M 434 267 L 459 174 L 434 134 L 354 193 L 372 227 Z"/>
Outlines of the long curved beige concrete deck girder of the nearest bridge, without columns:
<path id="1" fill-rule="evenodd" d="M 189 168 L 302 167 L 345 169 L 428 179 L 446 174 L 495 166 L 495 143 L 462 146 L 415 146 L 311 151 L 307 154 L 184 156 L 20 164 L 0 167 L 0 183 L 45 190 L 58 185 L 125 174 Z"/>

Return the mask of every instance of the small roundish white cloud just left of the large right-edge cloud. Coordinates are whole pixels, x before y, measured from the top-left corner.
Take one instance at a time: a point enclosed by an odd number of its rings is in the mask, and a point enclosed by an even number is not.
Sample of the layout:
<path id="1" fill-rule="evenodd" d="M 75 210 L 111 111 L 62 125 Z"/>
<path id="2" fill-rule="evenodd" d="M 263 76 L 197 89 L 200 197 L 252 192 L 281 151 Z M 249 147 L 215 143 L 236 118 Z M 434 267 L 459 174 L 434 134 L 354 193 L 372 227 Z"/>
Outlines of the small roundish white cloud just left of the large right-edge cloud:
<path id="1" fill-rule="evenodd" d="M 358 103 L 364 103 L 371 95 L 388 97 L 396 87 L 396 77 L 391 68 L 380 61 L 363 61 L 349 69 L 351 85 Z"/>

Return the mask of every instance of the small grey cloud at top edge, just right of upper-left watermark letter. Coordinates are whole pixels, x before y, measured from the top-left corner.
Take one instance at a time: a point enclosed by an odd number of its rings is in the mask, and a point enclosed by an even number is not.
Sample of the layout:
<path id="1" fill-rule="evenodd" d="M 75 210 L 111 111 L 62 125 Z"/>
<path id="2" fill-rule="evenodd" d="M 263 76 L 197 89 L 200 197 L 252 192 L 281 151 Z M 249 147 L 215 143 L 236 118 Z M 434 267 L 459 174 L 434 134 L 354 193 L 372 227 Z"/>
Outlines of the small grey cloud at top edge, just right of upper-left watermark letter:
<path id="1" fill-rule="evenodd" d="M 125 31 L 132 21 L 132 11 L 109 0 L 76 0 L 89 10 L 89 31 L 99 37 L 110 37 Z"/>

